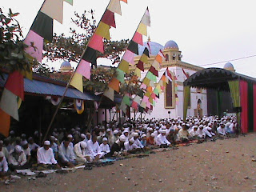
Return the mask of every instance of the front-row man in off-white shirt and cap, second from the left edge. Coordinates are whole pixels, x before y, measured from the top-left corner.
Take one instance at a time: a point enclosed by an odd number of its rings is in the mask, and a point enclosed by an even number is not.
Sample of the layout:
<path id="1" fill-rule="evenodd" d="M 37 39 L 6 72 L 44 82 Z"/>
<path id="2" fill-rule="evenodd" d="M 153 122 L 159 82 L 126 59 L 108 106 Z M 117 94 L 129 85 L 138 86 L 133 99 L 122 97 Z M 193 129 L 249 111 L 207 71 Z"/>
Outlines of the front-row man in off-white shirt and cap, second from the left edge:
<path id="1" fill-rule="evenodd" d="M 26 154 L 22 150 L 22 147 L 18 145 L 14 147 L 14 150 L 10 150 L 8 162 L 10 170 L 22 170 L 28 168 L 26 164 Z"/>

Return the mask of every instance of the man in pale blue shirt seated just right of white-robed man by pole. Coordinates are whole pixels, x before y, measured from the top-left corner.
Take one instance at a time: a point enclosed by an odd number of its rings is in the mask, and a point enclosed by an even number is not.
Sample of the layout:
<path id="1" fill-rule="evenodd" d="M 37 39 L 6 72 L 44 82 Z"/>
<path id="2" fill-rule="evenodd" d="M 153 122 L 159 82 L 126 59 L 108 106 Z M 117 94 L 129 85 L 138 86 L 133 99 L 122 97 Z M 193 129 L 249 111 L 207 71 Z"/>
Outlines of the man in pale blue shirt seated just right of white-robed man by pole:
<path id="1" fill-rule="evenodd" d="M 58 162 L 62 166 L 74 166 L 76 164 L 73 147 L 70 146 L 70 138 L 64 138 L 59 146 Z"/>

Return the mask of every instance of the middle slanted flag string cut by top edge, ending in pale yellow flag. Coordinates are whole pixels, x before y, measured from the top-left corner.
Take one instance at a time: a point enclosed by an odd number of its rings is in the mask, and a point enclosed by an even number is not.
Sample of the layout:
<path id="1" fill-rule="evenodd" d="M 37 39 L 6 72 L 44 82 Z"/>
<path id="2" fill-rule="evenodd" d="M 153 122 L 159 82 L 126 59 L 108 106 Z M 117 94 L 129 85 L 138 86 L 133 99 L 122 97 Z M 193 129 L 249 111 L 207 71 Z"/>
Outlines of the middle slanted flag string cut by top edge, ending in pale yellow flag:
<path id="1" fill-rule="evenodd" d="M 103 39 L 110 40 L 110 28 L 116 27 L 114 14 L 122 15 L 120 1 L 127 3 L 127 0 L 111 0 L 106 7 L 102 19 L 98 23 L 94 34 L 90 38 L 90 41 L 82 54 L 81 60 L 74 72 L 74 76 L 70 80 L 70 85 L 81 92 L 83 92 L 82 77 L 90 79 L 90 65 L 97 64 L 97 52 L 104 54 Z"/>

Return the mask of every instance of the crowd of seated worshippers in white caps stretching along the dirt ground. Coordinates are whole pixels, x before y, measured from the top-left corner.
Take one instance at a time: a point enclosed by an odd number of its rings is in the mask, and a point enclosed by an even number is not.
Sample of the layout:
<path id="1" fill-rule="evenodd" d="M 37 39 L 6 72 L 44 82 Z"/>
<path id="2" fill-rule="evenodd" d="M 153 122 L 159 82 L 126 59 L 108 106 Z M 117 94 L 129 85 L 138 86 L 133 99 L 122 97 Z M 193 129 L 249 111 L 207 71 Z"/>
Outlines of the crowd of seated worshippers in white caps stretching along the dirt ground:
<path id="1" fill-rule="evenodd" d="M 79 127 L 56 128 L 42 146 L 39 143 L 42 135 L 38 131 L 27 137 L 11 130 L 8 138 L 0 140 L 0 177 L 14 170 L 56 170 L 179 143 L 214 141 L 237 132 L 235 117 L 217 116 L 189 117 L 186 121 L 181 118 L 128 119 L 122 124 L 110 122 L 95 126 L 90 132 Z"/>

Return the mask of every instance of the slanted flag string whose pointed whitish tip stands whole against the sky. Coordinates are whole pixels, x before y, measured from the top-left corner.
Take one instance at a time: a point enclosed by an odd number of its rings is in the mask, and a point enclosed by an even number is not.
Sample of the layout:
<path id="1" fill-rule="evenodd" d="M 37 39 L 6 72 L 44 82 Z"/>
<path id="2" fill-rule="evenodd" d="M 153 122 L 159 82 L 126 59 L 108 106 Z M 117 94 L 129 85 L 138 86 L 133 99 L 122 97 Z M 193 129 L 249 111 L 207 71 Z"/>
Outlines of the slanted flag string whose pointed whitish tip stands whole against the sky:
<path id="1" fill-rule="evenodd" d="M 125 54 L 116 70 L 116 75 L 111 78 L 108 88 L 104 91 L 104 96 L 114 101 L 114 91 L 120 92 L 120 83 L 124 82 L 125 74 L 129 73 L 129 65 L 134 65 L 134 54 L 138 55 L 138 44 L 143 45 L 142 35 L 147 35 L 147 26 L 150 26 L 150 12 L 146 8 L 142 20 L 135 31 L 134 37 L 130 40 Z M 128 95 L 125 95 L 128 97 Z"/>

